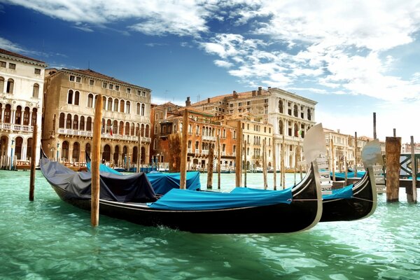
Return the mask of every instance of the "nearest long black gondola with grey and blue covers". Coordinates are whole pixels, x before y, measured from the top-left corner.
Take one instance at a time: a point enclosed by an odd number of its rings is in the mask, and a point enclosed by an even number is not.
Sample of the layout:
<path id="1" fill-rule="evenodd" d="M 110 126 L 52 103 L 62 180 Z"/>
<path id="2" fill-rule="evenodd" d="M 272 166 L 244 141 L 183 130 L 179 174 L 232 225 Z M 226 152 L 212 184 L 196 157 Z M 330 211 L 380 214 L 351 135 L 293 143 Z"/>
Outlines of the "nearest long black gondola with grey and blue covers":
<path id="1" fill-rule="evenodd" d="M 323 139 L 321 124 L 311 130 L 314 131 L 312 134 L 318 134 L 316 139 Z M 306 138 L 312 138 L 311 130 Z M 323 141 L 321 144 L 323 146 Z M 314 148 L 309 151 L 313 153 Z M 312 157 L 308 154 L 307 158 Z M 318 223 L 322 214 L 321 184 L 314 165 L 316 163 L 311 164 L 305 178 L 293 188 L 260 195 L 174 188 L 158 199 L 143 173 L 131 176 L 100 174 L 99 213 L 139 225 L 196 233 L 307 230 Z M 51 162 L 45 155 L 40 166 L 43 176 L 64 202 L 90 210 L 90 172 L 73 172 L 58 162 Z"/>

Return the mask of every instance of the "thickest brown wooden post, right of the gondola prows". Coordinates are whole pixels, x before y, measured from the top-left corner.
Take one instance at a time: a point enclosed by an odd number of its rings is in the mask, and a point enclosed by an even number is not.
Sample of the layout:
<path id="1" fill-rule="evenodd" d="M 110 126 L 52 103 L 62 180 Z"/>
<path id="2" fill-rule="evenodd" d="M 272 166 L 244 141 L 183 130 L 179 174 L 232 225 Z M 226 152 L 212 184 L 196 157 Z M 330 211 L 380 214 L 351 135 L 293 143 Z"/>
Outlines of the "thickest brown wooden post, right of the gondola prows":
<path id="1" fill-rule="evenodd" d="M 398 202 L 401 137 L 386 137 L 386 201 Z"/>

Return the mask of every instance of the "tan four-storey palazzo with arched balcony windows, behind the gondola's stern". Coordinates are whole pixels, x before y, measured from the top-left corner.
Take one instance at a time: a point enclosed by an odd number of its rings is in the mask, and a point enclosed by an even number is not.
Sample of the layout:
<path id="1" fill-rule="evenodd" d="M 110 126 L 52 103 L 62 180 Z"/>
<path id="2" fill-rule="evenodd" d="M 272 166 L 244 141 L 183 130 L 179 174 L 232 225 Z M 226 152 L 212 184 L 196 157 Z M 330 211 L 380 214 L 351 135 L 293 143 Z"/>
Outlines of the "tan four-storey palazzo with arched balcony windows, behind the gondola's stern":
<path id="1" fill-rule="evenodd" d="M 90 69 L 48 69 L 45 73 L 42 145 L 66 165 L 85 162 L 92 151 L 94 110 L 102 108 L 102 162 L 116 167 L 149 162 L 151 90 Z M 140 145 L 139 145 L 140 142 Z"/>

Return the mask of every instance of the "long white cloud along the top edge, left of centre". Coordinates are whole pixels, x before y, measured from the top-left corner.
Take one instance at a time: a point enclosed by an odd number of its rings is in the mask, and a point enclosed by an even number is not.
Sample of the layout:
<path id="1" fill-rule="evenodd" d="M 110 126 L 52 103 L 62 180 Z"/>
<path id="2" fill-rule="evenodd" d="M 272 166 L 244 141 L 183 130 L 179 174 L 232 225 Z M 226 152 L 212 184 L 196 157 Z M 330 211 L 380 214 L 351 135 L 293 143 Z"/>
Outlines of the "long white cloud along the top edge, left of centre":
<path id="1" fill-rule="evenodd" d="M 149 35 L 199 36 L 207 31 L 209 12 L 199 1 L 165 0 L 9 0 L 52 18 L 104 27 L 111 22 L 135 20 L 130 29 Z"/>

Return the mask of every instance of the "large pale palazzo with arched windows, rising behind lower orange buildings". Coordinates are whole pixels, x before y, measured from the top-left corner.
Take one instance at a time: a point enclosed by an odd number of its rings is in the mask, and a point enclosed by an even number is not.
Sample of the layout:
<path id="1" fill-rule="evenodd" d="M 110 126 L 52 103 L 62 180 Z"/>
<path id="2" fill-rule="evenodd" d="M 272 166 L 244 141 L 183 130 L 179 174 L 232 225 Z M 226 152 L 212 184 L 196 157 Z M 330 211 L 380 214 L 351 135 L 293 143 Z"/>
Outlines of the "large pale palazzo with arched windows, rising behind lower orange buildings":
<path id="1" fill-rule="evenodd" d="M 300 160 L 299 155 L 302 155 L 304 134 L 315 125 L 316 103 L 279 88 L 268 87 L 263 90 L 258 87 L 258 90 L 251 92 L 234 91 L 232 94 L 208 98 L 190 106 L 214 116 L 249 113 L 256 120 L 269 123 L 273 128 L 273 153 L 280 155 L 283 146 L 285 167 L 292 168 Z M 280 156 L 276 156 L 276 166 L 279 163 Z"/>

